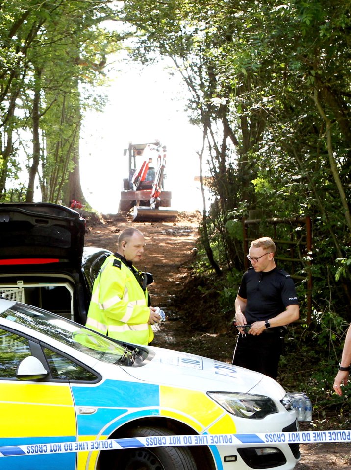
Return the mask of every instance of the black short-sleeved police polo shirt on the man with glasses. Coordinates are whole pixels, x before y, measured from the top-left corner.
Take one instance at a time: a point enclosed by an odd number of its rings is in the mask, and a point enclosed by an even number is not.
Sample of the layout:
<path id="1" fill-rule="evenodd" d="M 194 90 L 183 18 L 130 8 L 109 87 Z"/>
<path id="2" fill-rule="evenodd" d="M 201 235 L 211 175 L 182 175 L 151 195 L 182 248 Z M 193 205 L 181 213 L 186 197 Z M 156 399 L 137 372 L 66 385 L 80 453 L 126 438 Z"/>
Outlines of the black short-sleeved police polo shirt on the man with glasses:
<path id="1" fill-rule="evenodd" d="M 259 273 L 249 268 L 242 277 L 239 296 L 247 300 L 244 314 L 249 324 L 276 317 L 288 305 L 298 305 L 294 281 L 277 267 Z"/>

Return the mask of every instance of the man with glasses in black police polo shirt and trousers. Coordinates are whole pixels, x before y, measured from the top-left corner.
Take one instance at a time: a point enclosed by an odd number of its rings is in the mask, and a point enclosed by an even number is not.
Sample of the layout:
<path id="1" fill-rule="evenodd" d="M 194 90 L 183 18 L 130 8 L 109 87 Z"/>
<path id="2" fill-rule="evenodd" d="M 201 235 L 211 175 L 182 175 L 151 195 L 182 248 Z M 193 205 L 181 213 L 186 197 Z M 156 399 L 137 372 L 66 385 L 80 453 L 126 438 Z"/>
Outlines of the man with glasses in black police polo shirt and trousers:
<path id="1" fill-rule="evenodd" d="M 282 352 L 281 327 L 299 318 L 295 285 L 276 267 L 276 245 L 269 237 L 254 240 L 249 249 L 251 267 L 244 273 L 235 299 L 239 335 L 233 364 L 276 379 Z M 251 325 L 244 329 L 240 326 Z"/>

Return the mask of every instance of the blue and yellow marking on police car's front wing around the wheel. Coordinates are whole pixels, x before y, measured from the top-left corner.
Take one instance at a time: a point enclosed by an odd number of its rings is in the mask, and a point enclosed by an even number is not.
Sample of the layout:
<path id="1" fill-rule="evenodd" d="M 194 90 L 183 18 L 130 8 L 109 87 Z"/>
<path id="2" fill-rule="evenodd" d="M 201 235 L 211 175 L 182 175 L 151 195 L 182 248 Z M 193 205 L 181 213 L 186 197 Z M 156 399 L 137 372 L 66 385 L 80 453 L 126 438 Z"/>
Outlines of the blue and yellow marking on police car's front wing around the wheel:
<path id="1" fill-rule="evenodd" d="M 80 406 L 97 408 L 93 415 L 77 415 L 80 442 L 93 440 L 97 435 L 106 439 L 126 422 L 150 416 L 162 416 L 186 423 L 198 433 L 204 429 L 206 432 L 236 430 L 228 413 L 200 391 L 140 382 L 117 383 L 114 380 L 105 380 L 96 389 L 99 392 L 92 393 L 91 386 L 72 386 L 77 409 Z M 221 462 L 216 448 L 212 451 L 214 458 Z M 78 469 L 87 467 L 88 457 L 88 468 L 95 468 L 98 452 L 94 455 L 79 455 Z"/>

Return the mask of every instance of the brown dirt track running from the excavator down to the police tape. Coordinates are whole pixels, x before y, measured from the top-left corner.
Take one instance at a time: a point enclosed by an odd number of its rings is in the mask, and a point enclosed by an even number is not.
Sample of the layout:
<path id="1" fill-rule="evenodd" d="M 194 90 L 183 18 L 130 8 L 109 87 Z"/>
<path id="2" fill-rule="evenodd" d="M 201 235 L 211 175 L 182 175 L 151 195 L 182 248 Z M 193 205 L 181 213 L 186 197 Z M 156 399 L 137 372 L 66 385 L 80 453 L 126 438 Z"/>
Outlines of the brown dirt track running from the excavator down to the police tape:
<path id="1" fill-rule="evenodd" d="M 173 299 L 181 292 L 194 261 L 193 248 L 199 236 L 198 226 L 201 219 L 198 212 L 181 212 L 174 223 L 131 222 L 129 217 L 119 215 L 104 215 L 99 220 L 89 214 L 82 215 L 87 218 L 85 244 L 88 246 L 101 246 L 115 251 L 121 230 L 132 225 L 144 233 L 147 247 L 143 265 L 138 267 L 153 274 L 155 281 L 150 286 L 152 305 L 159 305 L 167 315 L 167 321 L 156 333 L 153 345 L 230 362 L 235 340 L 231 332 L 190 332 L 186 328 L 186 322 L 184 323 L 181 308 L 177 314 L 172 307 Z M 315 429 L 304 426 L 303 430 Z M 351 470 L 350 443 L 301 445 L 301 455 L 297 470 Z"/>

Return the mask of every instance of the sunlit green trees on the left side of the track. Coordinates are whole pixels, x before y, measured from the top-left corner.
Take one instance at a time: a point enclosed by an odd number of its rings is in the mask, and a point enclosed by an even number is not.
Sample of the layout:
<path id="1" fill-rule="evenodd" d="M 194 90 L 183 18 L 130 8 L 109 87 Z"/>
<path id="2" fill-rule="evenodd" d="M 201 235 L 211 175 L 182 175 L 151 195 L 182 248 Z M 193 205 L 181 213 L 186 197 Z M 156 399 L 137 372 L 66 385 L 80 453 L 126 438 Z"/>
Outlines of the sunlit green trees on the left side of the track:
<path id="1" fill-rule="evenodd" d="M 86 101 L 79 102 L 79 86 L 103 83 L 106 56 L 119 48 L 121 38 L 100 24 L 106 19 L 117 19 L 118 11 L 109 1 L 78 3 L 14 0 L 1 4 L 0 126 L 4 139 L 0 150 L 4 158 L 0 195 L 3 198 L 7 197 L 7 187 L 16 187 L 10 179 L 11 159 L 24 169 L 13 143 L 15 137 L 19 136 L 21 142 L 30 132 L 31 145 L 23 144 L 29 174 L 26 197 L 32 197 L 33 180 L 39 176 L 44 200 L 64 199 L 64 187 L 79 161 L 76 153 L 81 111 L 103 105 L 98 95 L 89 96 L 88 101 L 86 93 Z"/>

